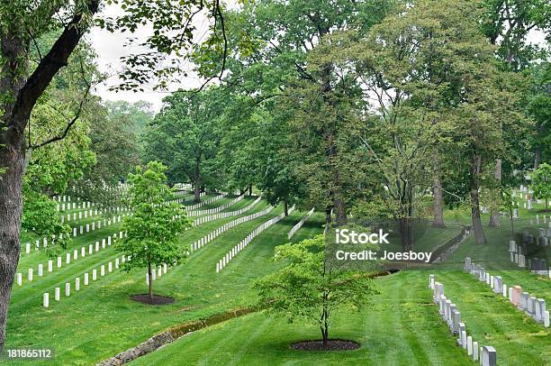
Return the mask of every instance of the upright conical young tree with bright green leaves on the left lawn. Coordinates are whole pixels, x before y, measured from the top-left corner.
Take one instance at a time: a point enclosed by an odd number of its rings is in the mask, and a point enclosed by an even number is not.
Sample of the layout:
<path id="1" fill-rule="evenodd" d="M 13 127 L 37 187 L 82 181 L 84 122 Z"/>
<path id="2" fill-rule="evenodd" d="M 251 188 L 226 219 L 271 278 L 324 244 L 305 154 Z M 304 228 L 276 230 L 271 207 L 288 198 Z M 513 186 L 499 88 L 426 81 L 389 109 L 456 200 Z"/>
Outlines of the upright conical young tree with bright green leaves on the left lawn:
<path id="1" fill-rule="evenodd" d="M 158 161 L 150 161 L 145 169 L 138 167 L 136 173 L 129 174 L 128 205 L 132 215 L 124 217 L 122 231 L 127 236 L 117 243 L 117 251 L 131 257 L 123 263 L 123 270 L 148 269 L 149 298 L 153 298 L 152 269 L 185 259 L 178 236 L 189 222 L 184 208 L 169 200 L 174 191 L 166 184 L 165 170 L 167 167 Z"/>

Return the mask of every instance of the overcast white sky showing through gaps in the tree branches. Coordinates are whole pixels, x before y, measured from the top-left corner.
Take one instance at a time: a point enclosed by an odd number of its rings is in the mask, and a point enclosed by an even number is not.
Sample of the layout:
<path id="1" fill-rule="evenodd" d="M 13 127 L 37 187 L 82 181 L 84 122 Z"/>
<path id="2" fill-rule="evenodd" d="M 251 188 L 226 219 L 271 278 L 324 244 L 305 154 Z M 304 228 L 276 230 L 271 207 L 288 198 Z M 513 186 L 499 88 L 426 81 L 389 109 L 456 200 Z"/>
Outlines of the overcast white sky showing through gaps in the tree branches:
<path id="1" fill-rule="evenodd" d="M 231 7 L 237 6 L 236 0 L 229 0 L 225 3 Z M 105 7 L 103 14 L 108 16 L 116 16 L 122 14 L 122 10 L 118 7 L 118 5 L 109 5 Z M 209 20 L 204 16 L 204 14 L 202 14 L 202 16 L 196 17 L 194 24 L 197 28 L 194 41 L 203 41 L 208 35 Z M 149 27 L 143 27 L 133 33 L 132 36 L 143 40 L 149 32 Z M 94 28 L 92 30 L 91 40 L 98 55 L 97 62 L 99 64 L 99 68 L 104 73 L 112 75 L 111 78 L 108 78 L 103 84 L 95 88 L 95 94 L 107 100 L 126 100 L 129 102 L 145 100 L 151 103 L 157 112 L 162 105 L 163 97 L 167 96 L 168 92 L 153 91 L 152 86 L 144 86 L 144 92 L 114 92 L 109 90 L 109 87 L 112 87 L 118 83 L 118 78 L 116 75 L 117 71 L 122 69 L 121 57 L 129 55 L 132 51 L 131 48 L 123 46 L 122 40 L 126 37 L 128 37 L 128 35 L 121 34 L 120 32 L 111 33 L 99 28 Z M 545 43 L 544 34 L 541 32 L 531 32 L 528 38 L 533 43 Z M 202 83 L 203 80 L 197 78 L 197 76 L 193 73 L 189 73 L 189 76 L 183 78 L 181 83 L 170 85 L 169 88 L 170 90 L 176 90 L 180 87 L 189 89 L 193 87 L 200 87 Z"/>

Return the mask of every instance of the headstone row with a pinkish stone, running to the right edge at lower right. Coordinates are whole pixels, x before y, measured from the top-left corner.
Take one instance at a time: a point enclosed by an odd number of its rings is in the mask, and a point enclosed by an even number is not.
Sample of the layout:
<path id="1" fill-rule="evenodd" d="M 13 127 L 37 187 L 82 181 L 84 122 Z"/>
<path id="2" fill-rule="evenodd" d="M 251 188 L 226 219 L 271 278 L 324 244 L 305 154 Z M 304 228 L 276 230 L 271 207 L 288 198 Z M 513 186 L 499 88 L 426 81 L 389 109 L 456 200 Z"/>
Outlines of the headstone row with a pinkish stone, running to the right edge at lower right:
<path id="1" fill-rule="evenodd" d="M 477 277 L 481 282 L 489 285 L 494 293 L 500 294 L 502 297 L 509 297 L 512 305 L 518 307 L 520 311 L 524 311 L 527 316 L 534 318 L 537 323 L 545 327 L 549 326 L 549 311 L 546 310 L 545 299 L 531 297 L 528 292 L 523 292 L 522 288 L 518 285 L 508 288 L 503 283 L 501 276 L 492 276 L 483 267 L 474 264 L 469 257 L 465 258 L 465 270 Z"/>

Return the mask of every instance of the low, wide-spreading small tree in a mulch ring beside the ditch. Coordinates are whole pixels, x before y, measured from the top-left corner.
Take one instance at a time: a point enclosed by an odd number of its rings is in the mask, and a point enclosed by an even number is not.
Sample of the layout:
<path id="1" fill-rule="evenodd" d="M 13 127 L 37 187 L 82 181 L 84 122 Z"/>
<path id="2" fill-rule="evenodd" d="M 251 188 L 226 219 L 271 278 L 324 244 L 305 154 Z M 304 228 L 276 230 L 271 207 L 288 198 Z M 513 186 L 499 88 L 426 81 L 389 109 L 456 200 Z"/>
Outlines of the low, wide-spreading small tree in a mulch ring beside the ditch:
<path id="1" fill-rule="evenodd" d="M 323 346 L 329 346 L 329 328 L 334 314 L 344 307 L 365 306 L 375 294 L 367 273 L 335 270 L 325 255 L 325 237 L 317 235 L 299 243 L 276 247 L 275 261 L 288 264 L 254 284 L 259 306 L 290 321 L 303 318 L 320 326 Z"/>

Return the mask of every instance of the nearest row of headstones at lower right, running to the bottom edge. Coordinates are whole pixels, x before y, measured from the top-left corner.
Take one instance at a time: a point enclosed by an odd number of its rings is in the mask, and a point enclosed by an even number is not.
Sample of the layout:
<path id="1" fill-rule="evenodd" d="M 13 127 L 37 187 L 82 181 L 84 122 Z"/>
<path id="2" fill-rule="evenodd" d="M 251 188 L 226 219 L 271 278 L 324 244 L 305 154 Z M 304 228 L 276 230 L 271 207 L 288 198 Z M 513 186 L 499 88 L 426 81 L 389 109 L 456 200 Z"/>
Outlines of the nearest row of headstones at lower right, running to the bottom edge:
<path id="1" fill-rule="evenodd" d="M 461 320 L 461 312 L 444 294 L 444 285 L 437 282 L 433 274 L 429 275 L 429 288 L 433 290 L 433 300 L 438 305 L 439 314 L 447 323 L 452 334 L 457 334 L 457 343 L 467 352 L 473 361 L 480 360 L 483 366 L 497 365 L 497 352 L 492 346 L 480 346 L 467 335 L 465 322 Z"/>

